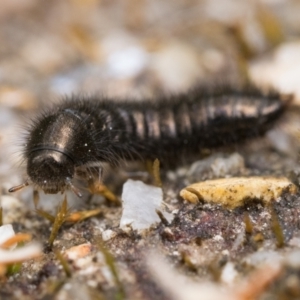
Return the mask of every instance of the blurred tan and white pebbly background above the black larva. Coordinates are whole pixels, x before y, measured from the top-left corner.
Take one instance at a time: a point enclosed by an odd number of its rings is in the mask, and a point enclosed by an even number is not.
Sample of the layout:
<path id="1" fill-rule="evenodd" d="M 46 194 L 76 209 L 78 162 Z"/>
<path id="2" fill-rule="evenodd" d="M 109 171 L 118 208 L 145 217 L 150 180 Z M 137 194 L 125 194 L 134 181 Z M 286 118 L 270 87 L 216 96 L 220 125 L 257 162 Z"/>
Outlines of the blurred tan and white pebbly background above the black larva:
<path id="1" fill-rule="evenodd" d="M 251 81 L 300 99 L 299 12 L 296 0 L 2 0 L 3 191 L 20 182 L 17 124 L 66 95 L 143 99 Z"/>

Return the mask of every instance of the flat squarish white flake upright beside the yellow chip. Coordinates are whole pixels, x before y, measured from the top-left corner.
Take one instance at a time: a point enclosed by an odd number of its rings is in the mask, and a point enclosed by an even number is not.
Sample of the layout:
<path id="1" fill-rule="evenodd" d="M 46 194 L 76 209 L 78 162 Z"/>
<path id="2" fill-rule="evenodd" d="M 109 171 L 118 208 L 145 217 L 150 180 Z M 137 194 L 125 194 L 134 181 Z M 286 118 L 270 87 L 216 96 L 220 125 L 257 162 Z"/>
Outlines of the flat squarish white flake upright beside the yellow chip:
<path id="1" fill-rule="evenodd" d="M 129 179 L 123 185 L 122 202 L 121 228 L 130 225 L 138 231 L 147 229 L 161 221 L 158 210 L 169 222 L 171 221 L 170 214 L 163 211 L 163 193 L 159 187 Z"/>

